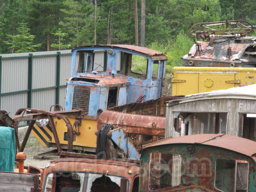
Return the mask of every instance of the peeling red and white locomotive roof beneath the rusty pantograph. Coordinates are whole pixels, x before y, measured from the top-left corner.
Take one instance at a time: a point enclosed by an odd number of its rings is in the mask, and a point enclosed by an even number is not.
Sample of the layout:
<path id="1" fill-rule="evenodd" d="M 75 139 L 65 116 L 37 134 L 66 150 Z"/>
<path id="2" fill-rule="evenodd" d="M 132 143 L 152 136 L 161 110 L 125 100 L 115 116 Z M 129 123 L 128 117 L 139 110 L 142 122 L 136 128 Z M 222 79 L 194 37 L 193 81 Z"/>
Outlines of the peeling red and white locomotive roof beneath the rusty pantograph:
<path id="1" fill-rule="evenodd" d="M 244 38 L 245 39 L 245 38 Z M 191 60 L 209 60 L 209 61 L 239 61 L 245 49 L 249 46 L 256 45 L 253 38 L 243 40 L 217 39 L 214 43 L 210 41 L 198 41 L 201 45 L 201 54 L 196 54 L 196 44 L 192 46 L 188 55 L 184 55 L 183 59 Z M 231 56 L 227 58 L 227 48 L 231 47 Z M 255 62 L 256 58 L 246 57 L 247 62 Z M 244 61 L 246 62 L 246 61 Z"/>

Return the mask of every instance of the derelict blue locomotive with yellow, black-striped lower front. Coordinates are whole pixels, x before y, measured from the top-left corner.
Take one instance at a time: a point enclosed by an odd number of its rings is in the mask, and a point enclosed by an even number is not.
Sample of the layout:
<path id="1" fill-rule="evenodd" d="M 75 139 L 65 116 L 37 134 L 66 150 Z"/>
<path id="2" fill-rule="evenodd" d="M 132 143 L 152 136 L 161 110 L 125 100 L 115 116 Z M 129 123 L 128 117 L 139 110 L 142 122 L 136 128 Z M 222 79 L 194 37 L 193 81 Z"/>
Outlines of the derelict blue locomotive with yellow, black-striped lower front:
<path id="1" fill-rule="evenodd" d="M 133 45 L 93 45 L 72 50 L 65 110 L 82 109 L 68 117 L 74 127 L 73 149 L 95 152 L 97 118 L 106 109 L 161 97 L 167 57 L 159 51 Z M 68 133 L 55 119 L 62 148 Z M 55 146 L 51 125 L 35 125 L 33 134 L 45 147 Z"/>

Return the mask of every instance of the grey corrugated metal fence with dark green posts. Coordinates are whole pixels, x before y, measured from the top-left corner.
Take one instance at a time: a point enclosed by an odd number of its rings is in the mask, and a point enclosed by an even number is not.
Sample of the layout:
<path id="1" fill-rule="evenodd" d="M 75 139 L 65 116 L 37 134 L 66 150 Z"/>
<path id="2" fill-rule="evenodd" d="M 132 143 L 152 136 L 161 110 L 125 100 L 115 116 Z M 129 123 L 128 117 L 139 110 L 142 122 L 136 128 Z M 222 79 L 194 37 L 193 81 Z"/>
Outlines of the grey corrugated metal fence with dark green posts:
<path id="1" fill-rule="evenodd" d="M 29 55 L 29 54 L 32 54 Z M 66 79 L 70 77 L 72 65 L 71 50 L 14 53 L 0 55 L 0 109 L 13 116 L 20 108 L 49 110 L 56 104 L 59 90 L 59 104 L 65 107 Z M 57 81 L 59 65 L 59 83 Z M 29 59 L 32 70 L 29 70 Z M 32 79 L 29 81 L 29 76 Z M 29 84 L 31 83 L 31 89 Z M 31 92 L 31 101 L 29 93 Z"/>

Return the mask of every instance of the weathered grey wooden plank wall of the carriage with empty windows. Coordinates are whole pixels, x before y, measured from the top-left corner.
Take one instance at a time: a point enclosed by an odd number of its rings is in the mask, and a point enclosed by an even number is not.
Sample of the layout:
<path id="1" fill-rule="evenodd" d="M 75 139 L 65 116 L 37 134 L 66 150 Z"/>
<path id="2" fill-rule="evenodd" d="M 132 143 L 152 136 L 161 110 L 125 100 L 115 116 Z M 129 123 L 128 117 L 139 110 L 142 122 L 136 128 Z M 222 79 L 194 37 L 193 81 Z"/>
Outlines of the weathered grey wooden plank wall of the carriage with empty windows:
<path id="1" fill-rule="evenodd" d="M 172 136 L 174 112 L 225 112 L 228 114 L 227 134 L 238 136 L 239 113 L 255 113 L 256 100 L 252 99 L 204 99 L 184 102 L 167 107 L 165 137 Z"/>

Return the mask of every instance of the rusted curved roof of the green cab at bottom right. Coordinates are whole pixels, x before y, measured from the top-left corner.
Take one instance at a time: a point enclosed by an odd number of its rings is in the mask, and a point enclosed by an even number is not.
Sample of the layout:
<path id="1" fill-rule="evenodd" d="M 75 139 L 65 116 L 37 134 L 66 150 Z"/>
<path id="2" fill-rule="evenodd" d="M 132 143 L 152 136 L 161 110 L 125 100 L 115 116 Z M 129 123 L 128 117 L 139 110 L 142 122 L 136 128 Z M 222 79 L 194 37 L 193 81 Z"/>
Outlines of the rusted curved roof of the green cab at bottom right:
<path id="1" fill-rule="evenodd" d="M 187 144 L 202 144 L 202 145 L 210 145 L 215 147 L 221 147 L 224 149 L 228 149 L 231 151 L 235 151 L 247 156 L 254 156 L 256 153 L 256 142 L 233 136 L 233 135 L 225 135 L 225 134 L 195 134 L 195 135 L 187 135 L 182 137 L 168 137 L 154 143 L 148 144 L 144 147 L 154 147 L 159 145 L 167 145 L 167 144 L 179 144 L 179 143 L 187 143 Z"/>

